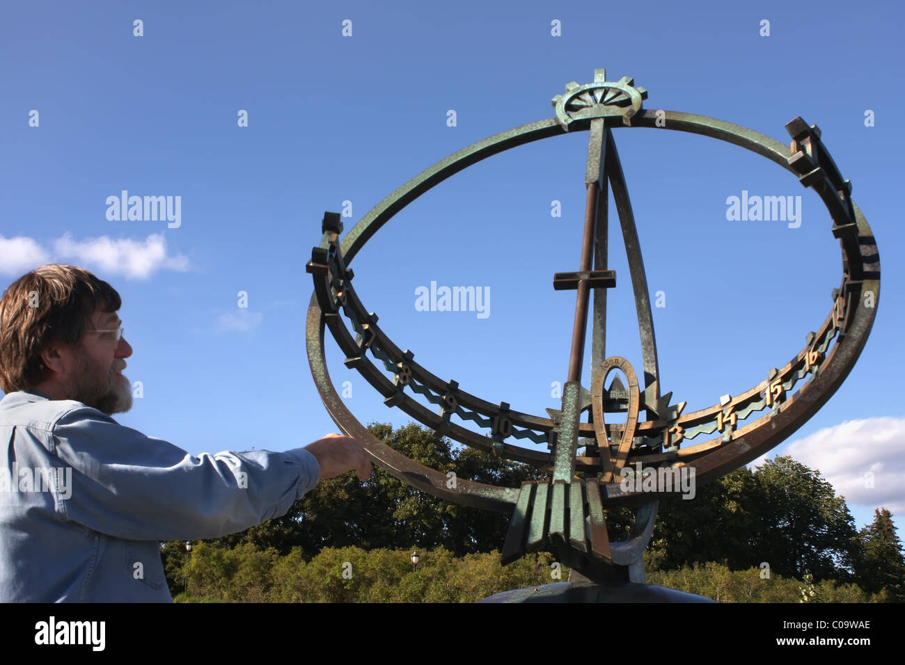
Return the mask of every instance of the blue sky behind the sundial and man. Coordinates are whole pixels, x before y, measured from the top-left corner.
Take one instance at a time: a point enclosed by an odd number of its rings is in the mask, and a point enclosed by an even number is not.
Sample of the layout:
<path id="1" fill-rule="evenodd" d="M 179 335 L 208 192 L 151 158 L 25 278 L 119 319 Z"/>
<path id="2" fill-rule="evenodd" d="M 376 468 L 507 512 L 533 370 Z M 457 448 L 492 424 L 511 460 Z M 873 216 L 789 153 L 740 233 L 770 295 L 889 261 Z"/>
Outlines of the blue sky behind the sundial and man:
<path id="1" fill-rule="evenodd" d="M 901 528 L 903 14 L 840 0 L 7 4 L 0 281 L 66 262 L 119 290 L 137 397 L 120 423 L 193 454 L 287 450 L 337 431 L 304 344 L 305 263 L 325 211 L 344 214 L 348 232 L 428 166 L 552 117 L 551 98 L 595 68 L 607 81 L 633 77 L 645 109 L 782 143 L 801 116 L 853 183 L 882 292 L 851 375 L 769 456 L 820 470 L 859 527 L 883 506 Z M 587 138 L 544 139 L 452 176 L 351 264 L 398 347 L 472 394 L 540 416 L 559 408 L 567 375 L 575 294 L 551 282 L 578 270 Z M 829 214 L 791 173 L 728 143 L 653 128 L 616 128 L 614 139 L 652 300 L 662 293 L 662 391 L 686 413 L 744 392 L 830 311 L 842 265 Z M 170 216 L 119 217 L 110 200 L 123 191 L 168 197 Z M 730 220 L 727 200 L 743 192 L 800 196 L 800 224 Z M 640 374 L 610 218 L 607 355 Z M 483 311 L 416 307 L 432 282 L 489 299 Z M 328 337 L 330 375 L 360 422 L 409 422 L 342 360 Z"/>

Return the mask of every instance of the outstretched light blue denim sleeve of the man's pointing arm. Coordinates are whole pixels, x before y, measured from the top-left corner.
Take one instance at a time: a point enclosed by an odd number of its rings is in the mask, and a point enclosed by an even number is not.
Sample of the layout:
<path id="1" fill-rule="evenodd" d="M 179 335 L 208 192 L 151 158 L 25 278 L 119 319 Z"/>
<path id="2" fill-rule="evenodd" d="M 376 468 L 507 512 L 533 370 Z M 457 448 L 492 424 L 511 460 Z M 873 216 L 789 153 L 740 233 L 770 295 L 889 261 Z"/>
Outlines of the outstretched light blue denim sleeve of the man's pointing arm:
<path id="1" fill-rule="evenodd" d="M 195 457 L 87 406 L 63 413 L 52 434 L 52 453 L 71 468 L 57 512 L 128 540 L 242 531 L 285 515 L 320 476 L 318 461 L 303 448 Z"/>

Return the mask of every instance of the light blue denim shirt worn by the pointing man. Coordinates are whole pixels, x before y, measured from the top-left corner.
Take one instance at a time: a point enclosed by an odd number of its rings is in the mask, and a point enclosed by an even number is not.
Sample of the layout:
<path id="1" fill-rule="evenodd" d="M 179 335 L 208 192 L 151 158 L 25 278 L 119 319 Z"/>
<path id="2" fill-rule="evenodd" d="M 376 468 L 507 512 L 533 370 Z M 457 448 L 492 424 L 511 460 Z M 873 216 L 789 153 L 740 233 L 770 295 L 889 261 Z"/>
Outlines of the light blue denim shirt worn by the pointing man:
<path id="1" fill-rule="evenodd" d="M 317 484 L 309 451 L 203 453 L 81 402 L 0 400 L 0 602 L 170 603 L 160 540 L 285 515 Z"/>

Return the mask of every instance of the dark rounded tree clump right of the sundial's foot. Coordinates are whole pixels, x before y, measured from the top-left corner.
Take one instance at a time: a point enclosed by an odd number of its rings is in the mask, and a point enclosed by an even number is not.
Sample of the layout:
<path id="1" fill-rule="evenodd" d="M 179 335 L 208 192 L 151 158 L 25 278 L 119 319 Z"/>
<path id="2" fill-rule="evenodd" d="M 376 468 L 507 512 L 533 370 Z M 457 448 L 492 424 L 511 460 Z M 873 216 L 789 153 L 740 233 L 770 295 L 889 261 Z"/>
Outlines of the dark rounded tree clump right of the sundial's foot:
<path id="1" fill-rule="evenodd" d="M 626 531 L 628 514 L 615 515 Z M 767 562 L 774 573 L 853 581 L 861 542 L 854 519 L 819 471 L 790 457 L 742 468 L 697 488 L 694 499 L 660 503 L 650 550 L 655 567 L 722 562 L 745 570 Z"/>

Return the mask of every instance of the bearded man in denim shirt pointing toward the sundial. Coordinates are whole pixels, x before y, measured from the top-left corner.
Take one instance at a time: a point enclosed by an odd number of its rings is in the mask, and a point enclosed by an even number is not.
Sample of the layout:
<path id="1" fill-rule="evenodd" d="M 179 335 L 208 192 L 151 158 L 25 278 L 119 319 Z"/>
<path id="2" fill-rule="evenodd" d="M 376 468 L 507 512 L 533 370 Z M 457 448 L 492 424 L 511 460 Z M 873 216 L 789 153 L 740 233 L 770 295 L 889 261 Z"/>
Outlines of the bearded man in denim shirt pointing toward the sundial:
<path id="1" fill-rule="evenodd" d="M 328 434 L 285 452 L 194 457 L 110 416 L 132 403 L 119 294 L 47 265 L 0 298 L 0 602 L 172 602 L 158 541 L 284 515 L 371 463 Z"/>

